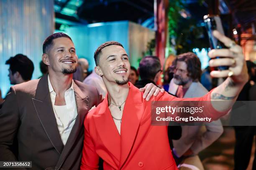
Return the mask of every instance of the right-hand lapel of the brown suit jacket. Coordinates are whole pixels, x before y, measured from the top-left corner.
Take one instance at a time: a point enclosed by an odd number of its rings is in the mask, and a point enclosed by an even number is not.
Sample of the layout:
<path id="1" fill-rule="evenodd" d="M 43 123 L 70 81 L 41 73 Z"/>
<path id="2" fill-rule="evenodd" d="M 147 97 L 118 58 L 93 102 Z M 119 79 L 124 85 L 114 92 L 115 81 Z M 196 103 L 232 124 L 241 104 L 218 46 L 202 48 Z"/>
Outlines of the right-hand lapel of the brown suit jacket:
<path id="1" fill-rule="evenodd" d="M 84 118 L 89 110 L 90 97 L 87 95 L 84 95 L 84 93 L 80 90 L 80 88 L 77 86 L 76 83 L 74 83 L 74 94 L 75 94 L 76 105 L 77 105 L 77 118 L 69 134 L 67 143 L 61 153 L 59 161 L 56 165 L 57 167 L 61 167 L 64 160 L 67 158 L 67 155 L 69 154 L 70 150 L 72 150 L 73 145 L 76 143 L 77 140 L 79 140 L 77 139 L 77 137 L 79 137 L 79 134 L 83 132 Z M 82 148 L 81 148 L 81 152 L 82 152 Z"/>

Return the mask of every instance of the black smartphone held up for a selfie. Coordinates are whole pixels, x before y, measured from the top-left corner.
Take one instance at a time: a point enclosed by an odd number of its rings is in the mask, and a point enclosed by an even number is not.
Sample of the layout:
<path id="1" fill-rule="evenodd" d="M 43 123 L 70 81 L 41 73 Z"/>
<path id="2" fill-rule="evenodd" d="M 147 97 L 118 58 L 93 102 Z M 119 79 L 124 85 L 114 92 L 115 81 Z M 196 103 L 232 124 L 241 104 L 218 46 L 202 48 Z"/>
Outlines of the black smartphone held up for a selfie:
<path id="1" fill-rule="evenodd" d="M 221 24 L 220 17 L 218 15 L 205 15 L 204 16 L 205 28 L 207 30 L 207 35 L 210 41 L 211 49 L 221 49 L 225 48 L 225 45 L 215 38 L 212 34 L 213 30 L 218 30 L 220 33 L 224 34 L 223 27 Z M 220 57 L 216 57 L 220 58 Z M 228 70 L 228 66 L 219 66 L 218 70 Z"/>

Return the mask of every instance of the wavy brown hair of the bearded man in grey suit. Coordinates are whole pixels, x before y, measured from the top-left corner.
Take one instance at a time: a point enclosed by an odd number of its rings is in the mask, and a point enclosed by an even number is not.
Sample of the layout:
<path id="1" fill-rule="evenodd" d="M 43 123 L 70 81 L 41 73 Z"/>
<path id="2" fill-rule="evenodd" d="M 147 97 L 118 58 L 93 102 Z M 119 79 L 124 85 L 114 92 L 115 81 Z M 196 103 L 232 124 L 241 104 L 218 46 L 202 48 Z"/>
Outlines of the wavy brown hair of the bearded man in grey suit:
<path id="1" fill-rule="evenodd" d="M 197 55 L 193 52 L 186 52 L 177 56 L 177 58 L 173 61 L 172 67 L 176 68 L 178 61 L 184 61 L 187 64 L 187 72 L 188 76 L 192 78 L 193 81 L 200 80 L 202 70 L 201 70 L 201 62 Z"/>

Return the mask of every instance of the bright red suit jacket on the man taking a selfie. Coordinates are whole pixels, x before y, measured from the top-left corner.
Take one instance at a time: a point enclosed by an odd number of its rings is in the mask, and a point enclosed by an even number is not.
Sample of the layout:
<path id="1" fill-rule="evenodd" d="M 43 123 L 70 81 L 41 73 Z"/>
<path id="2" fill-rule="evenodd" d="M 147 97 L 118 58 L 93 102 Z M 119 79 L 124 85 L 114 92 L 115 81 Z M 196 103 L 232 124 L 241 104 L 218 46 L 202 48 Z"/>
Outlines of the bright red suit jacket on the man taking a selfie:
<path id="1" fill-rule="evenodd" d="M 200 98 L 180 99 L 167 92 L 143 99 L 143 93 L 129 82 L 130 90 L 125 102 L 121 135 L 108 108 L 108 96 L 91 110 L 84 120 L 84 148 L 81 170 L 98 169 L 99 157 L 104 160 L 104 170 L 178 170 L 166 126 L 151 125 L 152 101 L 202 100 L 210 101 L 210 92 Z M 218 112 L 210 105 L 212 115 Z"/>

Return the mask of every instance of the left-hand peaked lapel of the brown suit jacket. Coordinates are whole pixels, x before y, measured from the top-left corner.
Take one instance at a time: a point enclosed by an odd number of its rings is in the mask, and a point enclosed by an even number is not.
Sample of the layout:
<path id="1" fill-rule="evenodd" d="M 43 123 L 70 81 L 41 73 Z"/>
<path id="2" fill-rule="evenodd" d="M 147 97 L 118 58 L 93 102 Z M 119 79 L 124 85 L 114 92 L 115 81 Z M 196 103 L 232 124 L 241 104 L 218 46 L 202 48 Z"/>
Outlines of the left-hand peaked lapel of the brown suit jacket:
<path id="1" fill-rule="evenodd" d="M 32 101 L 49 140 L 57 152 L 61 154 L 64 145 L 59 135 L 54 110 L 51 104 L 47 75 L 39 80 L 36 88 L 36 97 L 32 98 Z"/>

